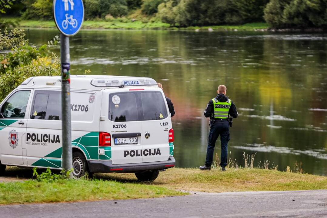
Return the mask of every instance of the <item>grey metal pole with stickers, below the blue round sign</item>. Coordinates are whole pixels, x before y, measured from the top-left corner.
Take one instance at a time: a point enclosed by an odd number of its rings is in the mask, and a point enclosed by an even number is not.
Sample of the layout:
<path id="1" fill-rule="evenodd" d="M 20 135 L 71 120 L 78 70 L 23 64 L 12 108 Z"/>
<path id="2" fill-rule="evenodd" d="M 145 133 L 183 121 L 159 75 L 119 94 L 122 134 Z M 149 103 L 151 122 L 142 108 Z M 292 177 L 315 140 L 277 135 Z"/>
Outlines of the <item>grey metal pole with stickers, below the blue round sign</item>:
<path id="1" fill-rule="evenodd" d="M 69 37 L 60 33 L 62 169 L 65 172 L 72 169 L 69 59 Z M 69 174 L 69 178 L 72 178 L 72 173 Z"/>

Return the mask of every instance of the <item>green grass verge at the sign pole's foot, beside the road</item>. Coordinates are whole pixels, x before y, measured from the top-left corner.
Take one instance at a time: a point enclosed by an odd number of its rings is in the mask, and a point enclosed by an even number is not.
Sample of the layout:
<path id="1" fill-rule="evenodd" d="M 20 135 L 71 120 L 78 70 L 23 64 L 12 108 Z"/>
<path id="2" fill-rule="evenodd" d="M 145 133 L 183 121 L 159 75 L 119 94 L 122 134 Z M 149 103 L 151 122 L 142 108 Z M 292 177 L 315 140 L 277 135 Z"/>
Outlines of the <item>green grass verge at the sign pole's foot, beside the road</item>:
<path id="1" fill-rule="evenodd" d="M 153 198 L 182 194 L 164 187 L 97 179 L 0 183 L 0 204 Z"/>

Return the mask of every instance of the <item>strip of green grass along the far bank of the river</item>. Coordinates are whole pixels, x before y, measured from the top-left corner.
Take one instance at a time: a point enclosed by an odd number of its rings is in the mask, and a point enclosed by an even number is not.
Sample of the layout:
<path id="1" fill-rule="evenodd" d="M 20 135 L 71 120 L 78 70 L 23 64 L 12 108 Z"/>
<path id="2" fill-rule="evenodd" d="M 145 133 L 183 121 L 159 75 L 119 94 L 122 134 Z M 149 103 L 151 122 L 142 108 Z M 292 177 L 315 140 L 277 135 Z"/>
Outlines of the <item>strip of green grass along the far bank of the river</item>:
<path id="1" fill-rule="evenodd" d="M 6 18 L 6 20 L 18 20 L 18 18 Z M 22 20 L 19 21 L 18 27 L 24 28 L 55 28 L 56 25 L 54 21 L 41 21 L 41 20 Z M 266 29 L 268 25 L 266 23 L 250 23 L 244 25 L 235 25 L 235 26 L 188 26 L 188 27 L 170 27 L 167 23 L 162 23 L 160 21 L 142 23 L 141 21 L 130 21 L 121 19 L 112 20 L 112 21 L 84 21 L 82 29 L 181 29 L 181 30 L 208 30 L 209 28 L 213 30 L 246 30 L 253 31 L 256 29 Z"/>

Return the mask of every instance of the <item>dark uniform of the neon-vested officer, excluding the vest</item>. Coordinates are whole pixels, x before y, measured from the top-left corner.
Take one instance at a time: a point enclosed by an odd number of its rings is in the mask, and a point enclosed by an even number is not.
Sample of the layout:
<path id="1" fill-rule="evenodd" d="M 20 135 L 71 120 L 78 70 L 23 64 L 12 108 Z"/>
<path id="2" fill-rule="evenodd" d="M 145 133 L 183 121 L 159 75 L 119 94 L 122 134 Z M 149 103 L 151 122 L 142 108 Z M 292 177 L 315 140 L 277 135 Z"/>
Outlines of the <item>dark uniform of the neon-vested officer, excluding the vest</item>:
<path id="1" fill-rule="evenodd" d="M 218 94 L 215 99 L 217 99 L 219 102 L 228 102 L 229 99 L 224 94 Z M 220 156 L 220 166 L 224 167 L 227 165 L 227 144 L 230 140 L 231 136 L 229 134 L 229 123 L 227 119 L 215 119 L 214 117 L 214 102 L 213 100 L 210 100 L 207 108 L 204 111 L 205 117 L 210 117 L 212 120 L 209 138 L 208 138 L 208 147 L 207 147 L 207 158 L 205 161 L 205 166 L 210 169 L 210 166 L 213 161 L 214 157 L 214 149 L 215 149 L 215 143 L 218 139 L 218 136 L 220 135 L 220 141 L 221 141 L 221 156 Z M 236 106 L 232 102 L 228 114 L 231 115 L 233 118 L 237 117 L 237 110 Z M 200 167 L 201 169 L 201 167 Z M 203 168 L 202 168 L 203 169 Z"/>

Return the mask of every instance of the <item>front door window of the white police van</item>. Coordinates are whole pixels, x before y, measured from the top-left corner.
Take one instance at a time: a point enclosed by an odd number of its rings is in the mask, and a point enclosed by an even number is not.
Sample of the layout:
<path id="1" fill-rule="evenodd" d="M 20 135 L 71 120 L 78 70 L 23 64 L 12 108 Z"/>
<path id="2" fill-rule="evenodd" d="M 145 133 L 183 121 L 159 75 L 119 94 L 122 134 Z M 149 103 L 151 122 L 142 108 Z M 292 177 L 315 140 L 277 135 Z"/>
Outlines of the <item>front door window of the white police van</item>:
<path id="1" fill-rule="evenodd" d="M 26 106 L 31 91 L 15 92 L 1 108 L 1 114 L 4 118 L 24 118 Z"/>

